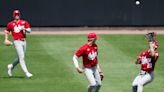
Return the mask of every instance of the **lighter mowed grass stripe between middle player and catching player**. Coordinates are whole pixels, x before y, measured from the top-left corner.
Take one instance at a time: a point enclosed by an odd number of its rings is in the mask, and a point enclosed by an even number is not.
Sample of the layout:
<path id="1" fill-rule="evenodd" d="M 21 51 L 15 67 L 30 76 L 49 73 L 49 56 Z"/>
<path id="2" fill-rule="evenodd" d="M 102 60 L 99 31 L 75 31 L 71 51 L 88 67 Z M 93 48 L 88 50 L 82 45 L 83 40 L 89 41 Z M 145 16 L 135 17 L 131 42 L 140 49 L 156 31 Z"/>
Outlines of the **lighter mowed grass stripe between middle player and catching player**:
<path id="1" fill-rule="evenodd" d="M 111 42 L 110 36 L 103 36 L 99 41 L 99 59 L 104 70 L 102 92 L 130 92 L 132 74 L 136 67 L 133 66 L 134 59 Z M 125 86 L 127 85 L 127 86 Z"/>

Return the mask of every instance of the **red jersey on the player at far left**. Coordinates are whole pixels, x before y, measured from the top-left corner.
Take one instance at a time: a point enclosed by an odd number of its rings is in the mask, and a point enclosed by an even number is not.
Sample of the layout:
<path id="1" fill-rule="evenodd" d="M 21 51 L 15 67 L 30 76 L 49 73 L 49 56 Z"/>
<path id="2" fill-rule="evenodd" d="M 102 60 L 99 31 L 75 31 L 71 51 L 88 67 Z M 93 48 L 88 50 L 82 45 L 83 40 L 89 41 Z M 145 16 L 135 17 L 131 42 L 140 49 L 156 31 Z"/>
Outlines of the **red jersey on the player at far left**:
<path id="1" fill-rule="evenodd" d="M 30 25 L 25 20 L 19 20 L 18 22 L 14 20 L 7 24 L 5 32 L 8 33 L 11 31 L 14 40 L 24 39 L 26 38 L 26 32 L 25 30 L 22 30 L 22 27 L 30 28 Z"/>

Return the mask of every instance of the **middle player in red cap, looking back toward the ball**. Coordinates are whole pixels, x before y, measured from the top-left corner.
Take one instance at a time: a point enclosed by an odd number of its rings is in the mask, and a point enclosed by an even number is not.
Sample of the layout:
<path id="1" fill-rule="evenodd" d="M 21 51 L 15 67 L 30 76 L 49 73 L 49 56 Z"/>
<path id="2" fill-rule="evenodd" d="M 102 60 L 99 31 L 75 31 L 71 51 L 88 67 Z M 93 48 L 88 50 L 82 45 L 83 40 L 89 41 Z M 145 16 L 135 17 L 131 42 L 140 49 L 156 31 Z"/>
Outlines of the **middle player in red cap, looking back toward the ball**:
<path id="1" fill-rule="evenodd" d="M 88 34 L 88 42 L 77 50 L 73 56 L 73 62 L 79 73 L 84 73 L 88 82 L 88 92 L 99 92 L 101 80 L 103 80 L 103 72 L 98 64 L 98 47 L 96 40 L 98 36 L 91 32 Z M 83 58 L 83 68 L 79 67 L 78 58 Z"/>

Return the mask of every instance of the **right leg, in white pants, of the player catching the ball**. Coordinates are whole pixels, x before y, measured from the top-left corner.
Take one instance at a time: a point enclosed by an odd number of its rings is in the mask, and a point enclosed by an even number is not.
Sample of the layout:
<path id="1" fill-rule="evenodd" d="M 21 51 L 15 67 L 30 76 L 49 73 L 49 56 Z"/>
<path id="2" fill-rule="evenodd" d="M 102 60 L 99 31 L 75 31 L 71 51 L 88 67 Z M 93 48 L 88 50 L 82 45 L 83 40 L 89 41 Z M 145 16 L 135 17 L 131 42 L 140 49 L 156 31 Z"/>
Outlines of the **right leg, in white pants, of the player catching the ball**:
<path id="1" fill-rule="evenodd" d="M 147 73 L 142 76 L 142 78 L 138 82 L 138 91 L 137 92 L 143 92 L 143 86 L 153 81 L 153 75 Z"/>

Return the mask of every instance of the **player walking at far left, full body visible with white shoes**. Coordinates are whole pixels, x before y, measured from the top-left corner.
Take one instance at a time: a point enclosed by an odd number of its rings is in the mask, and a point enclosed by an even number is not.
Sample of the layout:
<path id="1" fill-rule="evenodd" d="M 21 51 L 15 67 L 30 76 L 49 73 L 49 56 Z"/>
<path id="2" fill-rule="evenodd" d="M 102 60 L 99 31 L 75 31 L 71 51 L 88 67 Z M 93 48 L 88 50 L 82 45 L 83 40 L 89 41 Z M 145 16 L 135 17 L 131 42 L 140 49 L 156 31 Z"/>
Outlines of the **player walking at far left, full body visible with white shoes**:
<path id="1" fill-rule="evenodd" d="M 14 10 L 13 11 L 13 18 L 14 20 L 7 24 L 5 30 L 5 41 L 4 44 L 10 46 L 14 44 L 18 58 L 16 58 L 8 67 L 8 75 L 12 76 L 12 70 L 15 66 L 20 63 L 22 70 L 24 71 L 25 75 L 30 78 L 33 75 L 27 70 L 25 64 L 25 51 L 26 51 L 26 32 L 30 33 L 31 28 L 27 21 L 20 19 L 20 11 Z M 13 43 L 8 40 L 9 32 L 12 33 Z"/>

